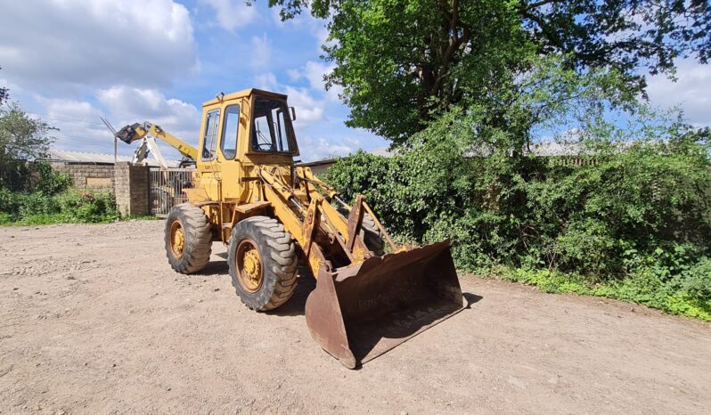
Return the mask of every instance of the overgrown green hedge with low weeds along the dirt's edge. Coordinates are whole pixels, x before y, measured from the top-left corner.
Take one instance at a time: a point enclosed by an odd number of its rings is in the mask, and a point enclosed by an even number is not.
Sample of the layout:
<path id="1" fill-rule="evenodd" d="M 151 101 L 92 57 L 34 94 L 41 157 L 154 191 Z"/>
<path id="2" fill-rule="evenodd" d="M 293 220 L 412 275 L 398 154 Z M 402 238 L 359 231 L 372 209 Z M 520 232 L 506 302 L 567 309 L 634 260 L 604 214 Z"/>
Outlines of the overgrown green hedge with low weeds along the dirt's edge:
<path id="1" fill-rule="evenodd" d="M 514 133 L 478 123 L 453 111 L 396 156 L 358 152 L 324 178 L 364 194 L 400 240 L 452 240 L 459 269 L 711 318 L 706 131 L 581 140 L 587 162 L 573 164 L 517 153 Z"/>

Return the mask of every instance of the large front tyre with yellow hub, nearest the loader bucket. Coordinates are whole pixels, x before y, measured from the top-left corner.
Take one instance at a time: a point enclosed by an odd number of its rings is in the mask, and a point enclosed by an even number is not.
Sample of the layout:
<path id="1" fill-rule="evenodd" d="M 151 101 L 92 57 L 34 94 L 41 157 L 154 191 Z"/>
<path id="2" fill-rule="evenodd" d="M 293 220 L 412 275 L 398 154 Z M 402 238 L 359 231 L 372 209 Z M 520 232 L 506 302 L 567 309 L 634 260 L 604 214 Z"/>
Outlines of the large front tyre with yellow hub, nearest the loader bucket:
<path id="1" fill-rule="evenodd" d="M 227 249 L 232 284 L 250 309 L 274 310 L 294 293 L 296 246 L 276 219 L 252 216 L 242 220 L 234 226 Z"/>

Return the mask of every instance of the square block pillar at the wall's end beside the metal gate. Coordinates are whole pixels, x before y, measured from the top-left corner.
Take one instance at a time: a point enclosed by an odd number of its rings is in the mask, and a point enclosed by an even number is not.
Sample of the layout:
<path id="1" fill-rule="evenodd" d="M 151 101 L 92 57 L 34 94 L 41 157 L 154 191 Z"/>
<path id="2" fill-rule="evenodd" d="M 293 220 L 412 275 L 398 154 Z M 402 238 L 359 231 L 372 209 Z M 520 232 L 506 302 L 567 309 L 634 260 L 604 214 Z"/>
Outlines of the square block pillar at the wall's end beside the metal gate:
<path id="1" fill-rule="evenodd" d="M 114 168 L 114 195 L 122 216 L 149 215 L 148 166 L 119 162 Z"/>

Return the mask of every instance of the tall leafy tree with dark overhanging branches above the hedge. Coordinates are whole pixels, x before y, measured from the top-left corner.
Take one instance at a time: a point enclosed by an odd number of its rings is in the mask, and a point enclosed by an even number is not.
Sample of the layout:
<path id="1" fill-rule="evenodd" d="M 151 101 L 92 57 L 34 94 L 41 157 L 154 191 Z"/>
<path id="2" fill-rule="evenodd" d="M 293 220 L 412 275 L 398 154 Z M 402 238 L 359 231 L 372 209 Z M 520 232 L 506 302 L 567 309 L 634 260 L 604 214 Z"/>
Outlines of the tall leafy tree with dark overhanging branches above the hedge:
<path id="1" fill-rule="evenodd" d="M 487 97 L 535 54 L 580 72 L 615 70 L 632 94 L 644 94 L 645 73 L 673 76 L 675 59 L 711 56 L 707 0 L 267 2 L 284 19 L 308 8 L 328 21 L 328 81 L 344 87 L 348 124 L 395 143 L 452 104 L 500 104 Z"/>

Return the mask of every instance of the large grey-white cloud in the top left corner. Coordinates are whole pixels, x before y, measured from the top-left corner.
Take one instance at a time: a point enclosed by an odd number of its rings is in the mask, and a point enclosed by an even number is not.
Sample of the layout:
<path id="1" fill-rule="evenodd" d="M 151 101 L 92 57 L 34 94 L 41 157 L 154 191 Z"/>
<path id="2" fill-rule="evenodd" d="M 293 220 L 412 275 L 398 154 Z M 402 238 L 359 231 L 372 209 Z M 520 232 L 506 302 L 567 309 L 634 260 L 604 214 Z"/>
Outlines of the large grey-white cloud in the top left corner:
<path id="1" fill-rule="evenodd" d="M 196 67 L 188 10 L 171 0 L 23 0 L 0 13 L 3 76 L 26 85 L 169 85 Z"/>

